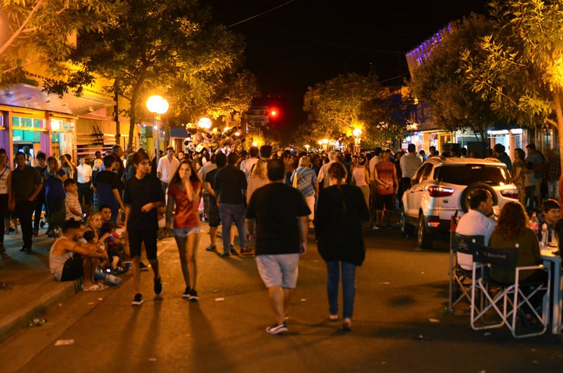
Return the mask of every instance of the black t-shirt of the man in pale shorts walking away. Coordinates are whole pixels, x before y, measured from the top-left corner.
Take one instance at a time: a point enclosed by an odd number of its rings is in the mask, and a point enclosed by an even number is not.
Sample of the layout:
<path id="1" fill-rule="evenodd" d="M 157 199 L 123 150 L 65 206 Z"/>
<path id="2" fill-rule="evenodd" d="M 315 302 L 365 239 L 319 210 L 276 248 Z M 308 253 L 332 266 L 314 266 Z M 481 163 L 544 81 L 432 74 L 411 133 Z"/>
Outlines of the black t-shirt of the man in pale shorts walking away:
<path id="1" fill-rule="evenodd" d="M 256 255 L 298 254 L 299 217 L 311 214 L 301 192 L 280 182 L 256 189 L 246 217 L 256 219 Z"/>

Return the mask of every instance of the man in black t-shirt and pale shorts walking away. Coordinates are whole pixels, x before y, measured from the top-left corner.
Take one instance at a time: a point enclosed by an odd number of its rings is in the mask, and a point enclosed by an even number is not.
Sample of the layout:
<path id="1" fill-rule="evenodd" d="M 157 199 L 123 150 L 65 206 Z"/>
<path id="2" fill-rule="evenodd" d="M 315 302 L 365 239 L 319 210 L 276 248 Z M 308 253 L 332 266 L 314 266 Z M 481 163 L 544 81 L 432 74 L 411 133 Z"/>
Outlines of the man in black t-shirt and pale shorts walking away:
<path id="1" fill-rule="evenodd" d="M 287 308 L 297 285 L 299 255 L 307 251 L 311 210 L 297 189 L 284 184 L 281 159 L 268 161 L 268 178 L 271 184 L 252 194 L 246 217 L 256 219 L 256 264 L 276 315 L 276 324 L 266 332 L 278 334 L 287 332 Z"/>

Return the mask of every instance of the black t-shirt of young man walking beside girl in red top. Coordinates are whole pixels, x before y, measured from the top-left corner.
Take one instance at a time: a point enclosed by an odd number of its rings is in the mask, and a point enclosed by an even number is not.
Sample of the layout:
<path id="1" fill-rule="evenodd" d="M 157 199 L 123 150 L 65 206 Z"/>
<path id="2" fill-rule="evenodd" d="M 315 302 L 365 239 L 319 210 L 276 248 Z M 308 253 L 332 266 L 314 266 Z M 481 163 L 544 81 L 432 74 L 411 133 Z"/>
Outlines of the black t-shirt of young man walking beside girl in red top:
<path id="1" fill-rule="evenodd" d="M 149 212 L 142 212 L 141 208 L 147 203 L 164 202 L 164 192 L 161 181 L 153 175 L 146 175 L 142 179 L 136 176 L 130 178 L 125 188 L 123 203 L 129 206 L 127 229 L 158 231 L 158 214 L 156 208 Z"/>

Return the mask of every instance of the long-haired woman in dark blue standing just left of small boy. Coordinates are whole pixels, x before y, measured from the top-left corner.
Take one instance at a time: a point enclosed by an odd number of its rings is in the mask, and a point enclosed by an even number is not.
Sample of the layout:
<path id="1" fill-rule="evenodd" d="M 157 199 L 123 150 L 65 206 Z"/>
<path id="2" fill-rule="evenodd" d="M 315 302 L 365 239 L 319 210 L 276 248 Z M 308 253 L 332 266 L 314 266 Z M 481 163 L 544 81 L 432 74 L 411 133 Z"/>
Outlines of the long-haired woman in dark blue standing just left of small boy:
<path id="1" fill-rule="evenodd" d="M 64 158 L 64 156 L 62 156 Z M 66 158 L 65 158 L 66 159 Z M 65 186 L 64 182 L 67 179 L 67 174 L 65 170 L 62 170 L 57 158 L 50 156 L 47 158 L 47 170 L 45 172 L 45 202 L 47 205 L 47 215 L 49 229 L 47 234 L 49 235 L 55 226 L 50 219 L 57 212 L 62 210 L 65 206 Z"/>

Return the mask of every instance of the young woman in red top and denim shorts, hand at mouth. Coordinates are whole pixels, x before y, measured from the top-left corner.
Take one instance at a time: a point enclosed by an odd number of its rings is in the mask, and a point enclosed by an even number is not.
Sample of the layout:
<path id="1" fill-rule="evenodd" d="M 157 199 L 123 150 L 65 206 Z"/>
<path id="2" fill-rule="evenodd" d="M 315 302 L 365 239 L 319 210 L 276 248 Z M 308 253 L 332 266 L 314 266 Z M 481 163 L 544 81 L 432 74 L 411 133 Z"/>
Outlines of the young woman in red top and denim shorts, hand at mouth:
<path id="1" fill-rule="evenodd" d="M 182 298 L 198 301 L 196 250 L 200 238 L 199 201 L 201 181 L 191 161 L 182 161 L 168 186 L 168 203 L 175 204 L 174 238 L 178 245 L 186 291 Z"/>

